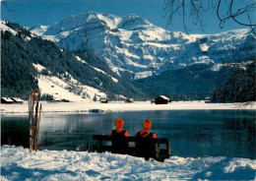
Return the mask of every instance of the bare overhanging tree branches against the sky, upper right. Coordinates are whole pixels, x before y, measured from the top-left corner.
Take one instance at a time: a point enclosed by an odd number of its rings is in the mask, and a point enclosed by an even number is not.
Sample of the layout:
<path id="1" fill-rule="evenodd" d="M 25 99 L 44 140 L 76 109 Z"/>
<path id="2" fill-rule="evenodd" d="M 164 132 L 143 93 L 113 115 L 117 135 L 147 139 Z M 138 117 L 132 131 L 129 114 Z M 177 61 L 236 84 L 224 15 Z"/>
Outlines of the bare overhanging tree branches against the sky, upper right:
<path id="1" fill-rule="evenodd" d="M 256 2 L 248 0 L 164 0 L 164 17 L 167 18 L 167 25 L 172 24 L 175 15 L 182 16 L 182 23 L 186 33 L 189 32 L 188 21 L 192 22 L 198 29 L 204 31 L 205 23 L 203 17 L 212 8 L 220 20 L 220 28 L 224 28 L 224 23 L 230 20 L 238 25 L 249 27 L 253 30 L 256 26 L 252 22 L 255 16 Z M 239 4 L 239 8 L 236 8 Z M 241 6 L 240 6 L 241 5 Z M 225 9 L 224 9 L 225 7 Z M 224 10 L 224 11 L 223 11 Z M 247 20 L 245 20 L 246 16 Z M 243 17 L 242 21 L 239 19 Z M 254 20 L 255 21 L 255 20 Z M 255 33 L 255 32 L 254 32 Z"/>

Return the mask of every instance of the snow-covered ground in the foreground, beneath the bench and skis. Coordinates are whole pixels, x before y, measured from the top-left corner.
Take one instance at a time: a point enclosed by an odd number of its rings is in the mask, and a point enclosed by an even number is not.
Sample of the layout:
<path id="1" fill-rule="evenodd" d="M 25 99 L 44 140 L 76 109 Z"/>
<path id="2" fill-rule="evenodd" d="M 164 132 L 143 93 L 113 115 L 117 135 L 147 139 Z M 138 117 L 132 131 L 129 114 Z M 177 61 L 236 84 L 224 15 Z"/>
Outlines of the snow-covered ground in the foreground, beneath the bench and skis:
<path id="1" fill-rule="evenodd" d="M 1 147 L 5 180 L 255 180 L 256 160 L 177 157 L 163 163 L 87 151 L 36 151 Z"/>

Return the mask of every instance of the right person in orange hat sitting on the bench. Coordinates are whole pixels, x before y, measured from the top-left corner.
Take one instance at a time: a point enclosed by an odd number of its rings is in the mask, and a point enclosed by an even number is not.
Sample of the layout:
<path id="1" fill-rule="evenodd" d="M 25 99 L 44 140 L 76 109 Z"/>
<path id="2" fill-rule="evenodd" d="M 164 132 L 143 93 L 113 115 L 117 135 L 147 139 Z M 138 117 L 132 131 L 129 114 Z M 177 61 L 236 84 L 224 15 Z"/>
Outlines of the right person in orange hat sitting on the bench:
<path id="1" fill-rule="evenodd" d="M 150 157 L 154 157 L 154 145 L 150 139 L 157 138 L 156 134 L 150 132 L 151 127 L 152 122 L 150 119 L 147 119 L 143 123 L 143 130 L 135 135 L 138 140 L 137 143 L 135 143 L 136 154 L 140 157 L 145 157 L 146 160 L 149 160 Z"/>

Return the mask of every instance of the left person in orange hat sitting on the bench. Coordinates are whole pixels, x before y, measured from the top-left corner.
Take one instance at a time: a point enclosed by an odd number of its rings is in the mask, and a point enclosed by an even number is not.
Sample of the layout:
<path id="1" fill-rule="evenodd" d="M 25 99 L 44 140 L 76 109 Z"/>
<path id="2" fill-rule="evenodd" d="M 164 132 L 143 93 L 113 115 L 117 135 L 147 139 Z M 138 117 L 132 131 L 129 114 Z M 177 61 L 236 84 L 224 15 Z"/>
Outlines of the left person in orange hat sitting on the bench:
<path id="1" fill-rule="evenodd" d="M 113 153 L 126 153 L 129 143 L 126 137 L 129 137 L 127 131 L 123 130 L 124 122 L 122 119 L 116 119 L 114 122 L 115 130 L 111 131 L 110 136 L 112 137 L 112 151 Z"/>

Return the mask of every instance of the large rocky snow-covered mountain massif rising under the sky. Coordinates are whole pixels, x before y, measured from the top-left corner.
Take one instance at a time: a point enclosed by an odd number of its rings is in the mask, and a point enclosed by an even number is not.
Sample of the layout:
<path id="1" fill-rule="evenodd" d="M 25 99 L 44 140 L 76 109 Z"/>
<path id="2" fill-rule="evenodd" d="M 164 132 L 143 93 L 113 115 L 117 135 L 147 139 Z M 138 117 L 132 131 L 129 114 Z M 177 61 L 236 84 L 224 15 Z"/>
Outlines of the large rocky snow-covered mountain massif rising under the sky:
<path id="1" fill-rule="evenodd" d="M 237 59 L 244 59 L 241 49 L 255 51 L 255 36 L 249 29 L 185 34 L 163 30 L 136 15 L 86 13 L 49 27 L 37 26 L 32 32 L 67 50 L 92 48 L 114 72 L 131 79 L 195 63 L 214 65 L 230 51 L 236 51 Z"/>

